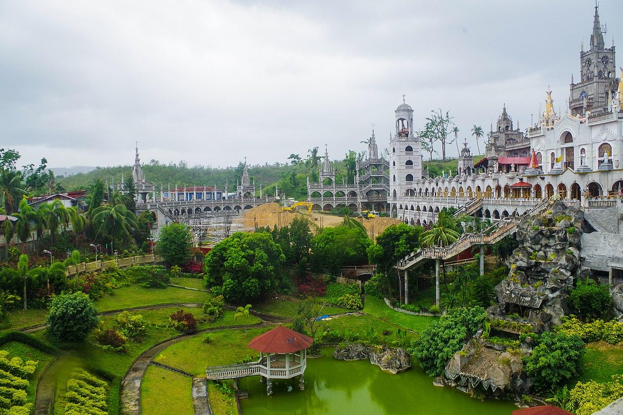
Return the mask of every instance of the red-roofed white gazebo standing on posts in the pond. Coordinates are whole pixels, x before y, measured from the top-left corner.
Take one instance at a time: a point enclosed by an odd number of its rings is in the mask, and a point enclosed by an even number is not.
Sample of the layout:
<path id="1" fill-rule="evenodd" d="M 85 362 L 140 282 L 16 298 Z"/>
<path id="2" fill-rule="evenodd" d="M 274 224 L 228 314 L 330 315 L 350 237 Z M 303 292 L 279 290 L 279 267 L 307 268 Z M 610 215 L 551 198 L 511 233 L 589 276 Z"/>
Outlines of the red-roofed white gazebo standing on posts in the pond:
<path id="1" fill-rule="evenodd" d="M 278 326 L 256 336 L 249 347 L 260 352 L 256 368 L 262 380 L 266 379 L 266 393 L 272 394 L 272 379 L 298 378 L 298 387 L 305 389 L 303 372 L 307 366 L 307 348 L 313 338 Z"/>

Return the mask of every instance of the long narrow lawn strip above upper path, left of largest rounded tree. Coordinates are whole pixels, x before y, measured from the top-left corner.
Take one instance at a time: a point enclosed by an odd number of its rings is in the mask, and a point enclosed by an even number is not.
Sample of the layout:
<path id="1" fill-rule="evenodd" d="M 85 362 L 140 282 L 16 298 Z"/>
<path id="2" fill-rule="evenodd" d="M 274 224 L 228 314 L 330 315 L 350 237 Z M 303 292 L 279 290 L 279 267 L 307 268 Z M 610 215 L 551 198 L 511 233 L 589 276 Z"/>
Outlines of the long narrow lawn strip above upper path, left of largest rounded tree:
<path id="1" fill-rule="evenodd" d="M 140 284 L 123 287 L 112 295 L 104 295 L 95 302 L 100 312 L 111 310 L 125 310 L 126 308 L 142 307 L 145 305 L 169 303 L 204 303 L 212 295 L 207 292 L 178 289 L 147 289 Z"/>

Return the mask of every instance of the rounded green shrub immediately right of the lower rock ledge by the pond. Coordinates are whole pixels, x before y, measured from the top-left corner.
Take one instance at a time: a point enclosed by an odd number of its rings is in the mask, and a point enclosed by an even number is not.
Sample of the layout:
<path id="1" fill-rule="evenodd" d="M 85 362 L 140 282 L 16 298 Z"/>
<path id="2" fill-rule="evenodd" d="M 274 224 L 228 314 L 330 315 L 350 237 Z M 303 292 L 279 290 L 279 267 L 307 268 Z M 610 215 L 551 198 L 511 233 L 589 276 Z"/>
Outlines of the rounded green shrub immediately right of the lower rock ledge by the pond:
<path id="1" fill-rule="evenodd" d="M 524 369 L 538 391 L 549 391 L 582 372 L 586 345 L 579 336 L 545 332 L 526 358 Z"/>

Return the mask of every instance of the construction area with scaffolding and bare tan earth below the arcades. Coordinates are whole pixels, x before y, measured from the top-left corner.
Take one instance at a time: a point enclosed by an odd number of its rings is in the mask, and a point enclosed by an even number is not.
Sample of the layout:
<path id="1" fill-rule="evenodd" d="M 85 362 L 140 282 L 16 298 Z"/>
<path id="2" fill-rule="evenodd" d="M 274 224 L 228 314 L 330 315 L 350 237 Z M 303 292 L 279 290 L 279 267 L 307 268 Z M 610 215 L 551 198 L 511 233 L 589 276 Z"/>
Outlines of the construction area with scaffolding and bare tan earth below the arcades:
<path id="1" fill-rule="evenodd" d="M 266 203 L 243 211 L 202 212 L 189 215 L 186 224 L 191 227 L 196 246 L 212 247 L 234 232 L 254 232 L 258 227 L 288 226 L 296 217 L 304 217 L 310 221 L 312 232 L 316 233 L 324 227 L 338 226 L 342 216 L 326 212 L 310 211 L 301 206 L 294 209 L 283 208 L 277 203 Z M 371 215 L 372 216 L 372 215 Z M 381 234 L 386 227 L 400 223 L 391 217 L 359 217 L 371 239 Z"/>

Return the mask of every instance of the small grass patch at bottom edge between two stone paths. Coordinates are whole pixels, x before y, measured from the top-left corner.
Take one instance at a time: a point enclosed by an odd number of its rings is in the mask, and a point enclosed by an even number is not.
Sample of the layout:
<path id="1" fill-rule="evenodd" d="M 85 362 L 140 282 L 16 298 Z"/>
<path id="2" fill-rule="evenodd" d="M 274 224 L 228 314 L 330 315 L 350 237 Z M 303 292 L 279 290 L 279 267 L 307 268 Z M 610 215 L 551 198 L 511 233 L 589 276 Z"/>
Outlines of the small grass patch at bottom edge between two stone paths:
<path id="1" fill-rule="evenodd" d="M 141 382 L 144 415 L 194 414 L 193 379 L 156 366 L 148 366 Z"/>

